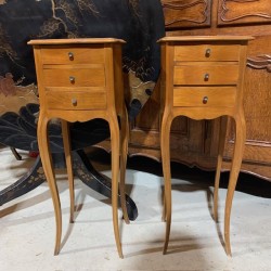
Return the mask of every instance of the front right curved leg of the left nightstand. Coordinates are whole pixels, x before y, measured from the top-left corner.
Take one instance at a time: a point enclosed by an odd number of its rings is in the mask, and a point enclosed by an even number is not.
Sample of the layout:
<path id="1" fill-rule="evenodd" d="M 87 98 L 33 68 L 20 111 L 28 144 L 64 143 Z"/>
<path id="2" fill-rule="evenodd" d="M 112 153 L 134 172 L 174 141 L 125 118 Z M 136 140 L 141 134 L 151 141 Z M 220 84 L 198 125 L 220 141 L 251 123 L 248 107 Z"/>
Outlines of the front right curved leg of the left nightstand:
<path id="1" fill-rule="evenodd" d="M 119 173 L 119 128 L 117 119 L 112 117 L 109 120 L 111 146 L 112 146 L 112 210 L 113 227 L 118 255 L 124 258 L 119 227 L 118 227 L 118 173 Z"/>

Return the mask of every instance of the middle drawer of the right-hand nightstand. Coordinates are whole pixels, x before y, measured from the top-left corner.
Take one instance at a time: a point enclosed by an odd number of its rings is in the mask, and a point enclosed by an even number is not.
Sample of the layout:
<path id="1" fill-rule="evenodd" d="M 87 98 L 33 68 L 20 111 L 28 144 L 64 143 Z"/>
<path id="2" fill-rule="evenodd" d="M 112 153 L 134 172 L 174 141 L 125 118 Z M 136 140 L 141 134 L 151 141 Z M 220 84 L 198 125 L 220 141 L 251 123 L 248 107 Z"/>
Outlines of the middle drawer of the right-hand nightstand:
<path id="1" fill-rule="evenodd" d="M 236 85 L 238 65 L 180 65 L 175 67 L 175 85 Z"/>

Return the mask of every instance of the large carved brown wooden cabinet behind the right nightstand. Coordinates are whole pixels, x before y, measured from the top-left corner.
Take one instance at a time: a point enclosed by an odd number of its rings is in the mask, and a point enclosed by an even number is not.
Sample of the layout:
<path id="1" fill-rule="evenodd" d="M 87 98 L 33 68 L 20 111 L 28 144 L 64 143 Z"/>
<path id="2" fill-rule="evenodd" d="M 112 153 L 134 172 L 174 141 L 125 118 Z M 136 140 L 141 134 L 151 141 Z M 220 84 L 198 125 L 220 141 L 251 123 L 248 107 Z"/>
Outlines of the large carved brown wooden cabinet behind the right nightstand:
<path id="1" fill-rule="evenodd" d="M 162 0 L 167 36 L 248 35 L 244 111 L 247 124 L 242 171 L 271 180 L 271 1 Z M 192 54 L 189 53 L 188 54 Z M 160 160 L 159 86 L 131 124 L 129 155 Z M 223 169 L 229 170 L 234 143 L 229 122 Z M 220 119 L 178 117 L 171 128 L 171 160 L 215 169 Z"/>

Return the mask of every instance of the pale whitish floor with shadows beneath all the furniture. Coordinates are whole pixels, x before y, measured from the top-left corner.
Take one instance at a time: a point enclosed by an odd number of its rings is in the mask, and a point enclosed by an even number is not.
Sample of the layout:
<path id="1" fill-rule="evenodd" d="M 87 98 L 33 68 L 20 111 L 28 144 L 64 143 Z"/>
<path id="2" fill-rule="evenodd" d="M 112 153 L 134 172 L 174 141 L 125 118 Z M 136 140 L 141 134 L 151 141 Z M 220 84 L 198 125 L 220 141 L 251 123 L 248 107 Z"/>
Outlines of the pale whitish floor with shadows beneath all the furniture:
<path id="1" fill-rule="evenodd" d="M 109 177 L 109 156 L 99 153 L 93 165 Z M 0 190 L 33 165 L 27 153 L 21 154 L 23 160 L 18 162 L 8 147 L 0 147 Z M 119 259 L 111 201 L 76 179 L 76 221 L 69 224 L 66 176 L 57 170 L 63 209 L 60 255 L 53 256 L 54 214 L 43 183 L 0 207 L 0 270 L 271 270 L 271 182 L 242 175 L 233 202 L 230 258 L 221 237 L 225 181 L 220 189 L 220 222 L 216 224 L 211 218 L 214 173 L 173 165 L 172 227 L 169 253 L 163 256 L 160 176 L 160 164 L 156 162 L 142 157 L 128 162 L 127 191 L 139 217 L 129 225 L 120 220 L 125 259 Z"/>

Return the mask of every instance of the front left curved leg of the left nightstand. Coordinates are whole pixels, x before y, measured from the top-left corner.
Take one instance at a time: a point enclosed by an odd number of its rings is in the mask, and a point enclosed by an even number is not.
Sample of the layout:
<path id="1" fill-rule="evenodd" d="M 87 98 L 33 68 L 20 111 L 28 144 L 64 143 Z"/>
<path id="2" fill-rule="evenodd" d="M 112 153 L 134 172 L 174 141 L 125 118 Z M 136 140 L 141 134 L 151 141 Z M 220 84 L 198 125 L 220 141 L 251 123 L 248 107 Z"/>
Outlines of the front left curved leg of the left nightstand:
<path id="1" fill-rule="evenodd" d="M 42 112 L 40 112 L 39 121 L 38 121 L 38 143 L 39 143 L 39 153 L 41 163 L 43 166 L 44 175 L 51 191 L 55 222 L 56 222 L 56 237 L 55 237 L 55 248 L 54 255 L 60 253 L 61 247 L 61 234 L 62 234 L 62 215 L 61 215 L 61 203 L 59 197 L 59 191 L 55 183 L 54 171 L 52 167 L 52 157 L 50 153 L 50 144 L 48 138 L 48 127 L 49 119 Z"/>

